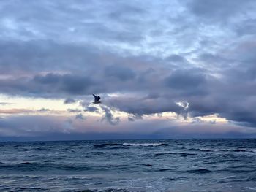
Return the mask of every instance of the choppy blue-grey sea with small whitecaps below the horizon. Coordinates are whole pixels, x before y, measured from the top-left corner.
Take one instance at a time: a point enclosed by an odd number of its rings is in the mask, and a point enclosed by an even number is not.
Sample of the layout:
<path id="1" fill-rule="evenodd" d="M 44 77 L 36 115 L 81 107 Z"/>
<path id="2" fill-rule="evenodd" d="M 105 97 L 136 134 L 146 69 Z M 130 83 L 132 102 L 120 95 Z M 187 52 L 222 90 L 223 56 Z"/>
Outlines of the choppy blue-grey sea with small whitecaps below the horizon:
<path id="1" fill-rule="evenodd" d="M 0 191 L 256 191 L 256 139 L 1 142 Z"/>

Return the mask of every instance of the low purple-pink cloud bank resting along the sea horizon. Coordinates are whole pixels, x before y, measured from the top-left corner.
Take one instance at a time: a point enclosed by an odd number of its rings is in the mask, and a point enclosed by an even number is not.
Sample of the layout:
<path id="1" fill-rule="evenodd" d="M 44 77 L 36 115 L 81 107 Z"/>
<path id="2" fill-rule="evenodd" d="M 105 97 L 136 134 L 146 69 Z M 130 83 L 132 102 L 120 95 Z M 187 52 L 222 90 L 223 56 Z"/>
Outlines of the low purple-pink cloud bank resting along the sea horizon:
<path id="1" fill-rule="evenodd" d="M 116 121 L 113 123 L 116 123 Z M 52 140 L 60 140 L 62 138 L 75 139 L 75 134 L 83 136 L 80 139 L 100 139 L 103 135 L 108 135 L 105 139 L 127 138 L 125 135 L 129 135 L 129 139 L 162 139 L 167 137 L 253 138 L 256 134 L 255 129 L 219 123 L 197 122 L 181 125 L 176 121 L 170 120 L 136 120 L 132 123 L 127 122 L 122 127 L 108 123 L 105 124 L 105 128 L 102 128 L 101 121 L 93 122 L 89 117 L 86 120 L 82 120 L 80 118 L 41 115 L 0 118 L 0 133 L 1 140 L 4 138 L 7 140 L 17 140 L 19 138 L 30 140 L 40 137 L 46 140 L 49 138 Z"/>

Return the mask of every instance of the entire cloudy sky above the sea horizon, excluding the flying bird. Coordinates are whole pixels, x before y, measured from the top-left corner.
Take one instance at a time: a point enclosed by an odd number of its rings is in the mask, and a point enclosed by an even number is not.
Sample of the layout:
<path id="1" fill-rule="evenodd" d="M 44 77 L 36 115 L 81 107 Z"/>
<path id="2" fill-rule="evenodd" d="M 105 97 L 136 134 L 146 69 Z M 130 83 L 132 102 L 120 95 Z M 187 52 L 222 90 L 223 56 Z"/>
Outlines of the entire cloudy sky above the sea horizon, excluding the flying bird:
<path id="1" fill-rule="evenodd" d="M 255 9 L 0 1 L 0 141 L 255 138 Z"/>

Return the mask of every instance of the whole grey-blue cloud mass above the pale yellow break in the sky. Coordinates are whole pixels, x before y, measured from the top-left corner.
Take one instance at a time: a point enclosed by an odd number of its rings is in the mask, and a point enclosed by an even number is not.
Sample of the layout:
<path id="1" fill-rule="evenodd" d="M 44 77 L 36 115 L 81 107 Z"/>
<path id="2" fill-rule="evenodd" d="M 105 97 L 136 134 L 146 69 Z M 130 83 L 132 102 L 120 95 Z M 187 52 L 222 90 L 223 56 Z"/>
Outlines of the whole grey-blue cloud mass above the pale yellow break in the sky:
<path id="1" fill-rule="evenodd" d="M 161 112 L 217 113 L 256 126 L 255 5 L 0 2 L 0 91 L 59 98 L 126 94 L 102 99 L 110 124 L 119 121 L 110 110 L 116 107 L 129 120 Z M 189 102 L 187 111 L 177 101 Z M 85 110 L 97 111 L 88 104 Z"/>

